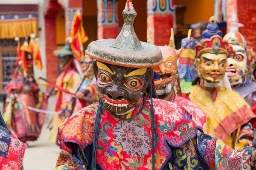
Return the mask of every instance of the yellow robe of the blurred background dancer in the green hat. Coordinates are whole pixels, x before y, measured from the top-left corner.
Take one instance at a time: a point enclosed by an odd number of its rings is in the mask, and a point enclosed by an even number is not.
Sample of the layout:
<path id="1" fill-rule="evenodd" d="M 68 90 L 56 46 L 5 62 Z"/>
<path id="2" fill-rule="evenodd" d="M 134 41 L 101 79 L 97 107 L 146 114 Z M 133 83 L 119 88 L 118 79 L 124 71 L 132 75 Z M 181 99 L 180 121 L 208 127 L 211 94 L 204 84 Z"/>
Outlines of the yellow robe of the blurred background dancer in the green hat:
<path id="1" fill-rule="evenodd" d="M 62 72 L 56 80 L 56 85 L 61 85 L 61 80 L 63 77 L 64 73 Z M 64 77 L 63 80 L 63 88 L 66 89 L 67 91 L 70 91 L 71 93 L 75 93 L 76 87 L 79 84 L 79 82 L 81 81 L 81 77 L 79 76 L 79 74 L 74 71 L 74 70 L 69 70 L 67 72 L 67 74 Z M 57 89 L 57 96 L 58 93 L 60 93 Z M 68 110 L 71 112 L 72 110 L 72 95 L 70 94 L 66 94 L 64 92 L 62 92 L 62 102 L 61 102 L 61 110 Z M 58 99 L 58 97 L 57 97 Z M 52 120 L 52 130 L 49 136 L 48 141 L 49 142 L 56 142 L 57 140 L 57 133 L 58 133 L 58 127 L 61 125 L 61 123 L 66 119 L 65 116 L 58 116 L 58 115 L 54 115 L 53 116 L 53 120 Z"/>

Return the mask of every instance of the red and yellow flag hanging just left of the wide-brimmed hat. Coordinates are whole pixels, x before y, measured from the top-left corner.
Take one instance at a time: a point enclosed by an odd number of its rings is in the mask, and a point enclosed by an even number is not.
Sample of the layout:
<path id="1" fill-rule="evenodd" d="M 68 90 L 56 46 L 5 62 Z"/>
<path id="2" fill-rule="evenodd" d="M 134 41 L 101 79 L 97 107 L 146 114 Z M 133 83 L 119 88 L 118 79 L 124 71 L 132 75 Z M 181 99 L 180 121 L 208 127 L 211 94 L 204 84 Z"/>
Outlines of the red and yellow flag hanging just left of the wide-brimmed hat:
<path id="1" fill-rule="evenodd" d="M 82 14 L 76 11 L 73 19 L 70 35 L 72 37 L 71 48 L 75 52 L 75 57 L 79 61 L 84 58 L 83 43 L 88 40 L 82 23 Z"/>

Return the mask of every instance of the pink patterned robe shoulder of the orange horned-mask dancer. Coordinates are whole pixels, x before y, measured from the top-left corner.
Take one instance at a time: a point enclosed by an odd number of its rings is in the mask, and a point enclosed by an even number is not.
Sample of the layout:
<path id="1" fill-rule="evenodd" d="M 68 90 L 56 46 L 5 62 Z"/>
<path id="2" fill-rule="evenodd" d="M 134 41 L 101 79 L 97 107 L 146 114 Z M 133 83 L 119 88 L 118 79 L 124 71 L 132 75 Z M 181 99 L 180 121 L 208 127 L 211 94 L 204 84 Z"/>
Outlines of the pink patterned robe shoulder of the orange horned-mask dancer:
<path id="1" fill-rule="evenodd" d="M 195 103 L 184 99 L 180 96 L 175 96 L 171 101 L 184 108 L 184 112 L 198 125 L 202 130 L 206 128 L 206 113 Z"/>

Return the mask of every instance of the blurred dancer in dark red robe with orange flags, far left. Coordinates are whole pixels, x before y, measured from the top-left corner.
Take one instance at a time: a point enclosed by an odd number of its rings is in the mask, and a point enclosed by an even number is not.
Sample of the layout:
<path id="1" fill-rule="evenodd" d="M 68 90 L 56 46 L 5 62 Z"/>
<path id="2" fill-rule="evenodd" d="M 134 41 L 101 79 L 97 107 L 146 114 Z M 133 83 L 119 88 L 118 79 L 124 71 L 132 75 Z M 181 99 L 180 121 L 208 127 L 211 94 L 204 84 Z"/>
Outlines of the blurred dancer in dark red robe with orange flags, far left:
<path id="1" fill-rule="evenodd" d="M 32 111 L 29 107 L 45 110 L 47 96 L 39 90 L 33 75 L 33 63 L 41 68 L 34 57 L 39 52 L 35 49 L 34 39 L 31 38 L 29 43 L 26 37 L 21 47 L 19 44 L 20 42 L 17 47 L 17 67 L 12 80 L 6 85 L 7 98 L 3 117 L 9 129 L 15 132 L 21 142 L 26 143 L 37 140 L 45 118 L 44 113 Z"/>

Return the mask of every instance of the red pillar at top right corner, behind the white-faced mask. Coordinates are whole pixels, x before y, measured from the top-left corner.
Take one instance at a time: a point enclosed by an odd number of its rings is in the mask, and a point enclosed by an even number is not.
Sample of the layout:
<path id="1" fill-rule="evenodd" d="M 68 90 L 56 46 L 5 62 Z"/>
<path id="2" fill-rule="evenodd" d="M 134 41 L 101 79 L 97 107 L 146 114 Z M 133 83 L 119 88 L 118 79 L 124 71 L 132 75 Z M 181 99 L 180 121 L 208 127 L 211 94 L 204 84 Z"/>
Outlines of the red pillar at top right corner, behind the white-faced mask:
<path id="1" fill-rule="evenodd" d="M 227 32 L 232 22 L 232 14 L 244 24 L 239 32 L 247 41 L 247 48 L 256 51 L 256 0 L 227 0 Z"/>

